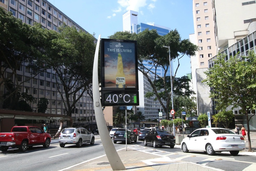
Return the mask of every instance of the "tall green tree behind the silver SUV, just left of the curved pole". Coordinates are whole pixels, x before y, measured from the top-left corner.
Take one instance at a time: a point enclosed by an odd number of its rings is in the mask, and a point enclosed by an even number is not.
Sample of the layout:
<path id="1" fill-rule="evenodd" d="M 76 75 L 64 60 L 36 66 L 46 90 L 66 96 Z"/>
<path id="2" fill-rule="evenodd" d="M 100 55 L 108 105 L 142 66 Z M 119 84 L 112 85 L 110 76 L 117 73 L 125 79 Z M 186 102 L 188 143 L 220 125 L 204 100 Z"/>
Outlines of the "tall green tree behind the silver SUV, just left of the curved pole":
<path id="1" fill-rule="evenodd" d="M 72 108 L 76 107 L 83 93 L 87 91 L 90 96 L 92 94 L 91 59 L 94 57 L 96 45 L 93 35 L 84 31 L 78 32 L 75 27 L 63 25 L 59 30 L 60 33 L 56 33 L 51 40 L 52 47 L 48 52 L 50 58 L 47 63 L 56 71 L 57 90 L 66 102 L 66 114 L 71 116 Z"/>

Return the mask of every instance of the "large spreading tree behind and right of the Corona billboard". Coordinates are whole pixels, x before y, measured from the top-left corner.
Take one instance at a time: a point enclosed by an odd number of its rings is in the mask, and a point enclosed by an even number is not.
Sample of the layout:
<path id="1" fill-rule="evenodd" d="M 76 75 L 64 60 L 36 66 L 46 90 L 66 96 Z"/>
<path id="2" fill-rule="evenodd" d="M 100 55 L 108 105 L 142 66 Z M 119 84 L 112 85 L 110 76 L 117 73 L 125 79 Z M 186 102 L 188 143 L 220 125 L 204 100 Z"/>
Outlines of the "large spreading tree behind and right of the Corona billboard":
<path id="1" fill-rule="evenodd" d="M 170 59 L 177 60 L 178 66 L 175 70 L 174 78 L 176 76 L 177 70 L 179 68 L 179 60 L 184 56 L 194 56 L 198 50 L 198 46 L 191 43 L 188 39 L 181 40 L 181 37 L 177 30 L 172 30 L 164 36 L 157 34 L 156 30 L 144 30 L 141 33 L 134 34 L 129 32 L 116 32 L 114 35 L 109 36 L 110 39 L 128 39 L 137 41 L 138 50 L 138 70 L 147 78 L 148 82 L 152 86 L 152 92 L 155 93 L 157 100 L 160 102 L 164 111 L 168 111 L 169 104 L 171 100 L 171 91 L 167 84 L 170 84 L 166 75 L 169 68 L 169 51 L 163 46 L 170 46 Z M 142 62 L 147 61 L 148 64 L 153 64 L 153 67 L 149 70 L 148 66 L 144 65 Z M 162 67 L 164 69 L 163 77 L 156 74 L 157 67 Z M 156 83 L 158 79 L 162 79 L 163 90 L 166 94 L 164 99 L 162 99 L 162 91 L 158 91 Z M 158 81 L 160 82 L 160 80 Z M 166 100 L 166 105 L 164 105 L 164 100 Z M 169 119 L 169 113 L 167 112 L 166 119 Z"/>

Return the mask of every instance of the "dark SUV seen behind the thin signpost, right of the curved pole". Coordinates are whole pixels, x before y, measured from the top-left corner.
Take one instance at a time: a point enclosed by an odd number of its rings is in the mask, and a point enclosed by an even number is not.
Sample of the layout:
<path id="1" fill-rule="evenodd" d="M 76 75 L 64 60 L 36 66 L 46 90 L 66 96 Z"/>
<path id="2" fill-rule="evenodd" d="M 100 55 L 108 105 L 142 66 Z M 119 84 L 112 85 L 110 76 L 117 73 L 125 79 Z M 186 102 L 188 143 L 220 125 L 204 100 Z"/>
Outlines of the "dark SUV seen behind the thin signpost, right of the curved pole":
<path id="1" fill-rule="evenodd" d="M 127 136 L 125 135 L 125 128 L 119 128 L 115 131 L 113 142 L 116 144 L 117 141 L 125 142 L 127 138 L 127 144 L 131 144 L 132 141 L 137 142 L 137 135 L 135 132 L 127 128 Z"/>

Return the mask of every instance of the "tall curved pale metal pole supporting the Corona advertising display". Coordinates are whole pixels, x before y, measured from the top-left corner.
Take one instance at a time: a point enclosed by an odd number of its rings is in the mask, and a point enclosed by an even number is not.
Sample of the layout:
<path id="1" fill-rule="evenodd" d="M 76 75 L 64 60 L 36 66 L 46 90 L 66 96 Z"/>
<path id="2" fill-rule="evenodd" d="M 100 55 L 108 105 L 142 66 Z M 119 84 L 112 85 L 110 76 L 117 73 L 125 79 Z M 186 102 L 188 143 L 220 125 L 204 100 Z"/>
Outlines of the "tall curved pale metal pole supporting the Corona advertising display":
<path id="1" fill-rule="evenodd" d="M 98 38 L 92 72 L 92 91 L 93 91 L 93 106 L 95 111 L 95 118 L 97 121 L 98 130 L 100 133 L 101 142 L 105 150 L 106 156 L 109 160 L 109 164 L 113 170 L 126 170 L 122 160 L 120 159 L 114 144 L 109 136 L 108 128 L 106 126 L 105 118 L 100 100 L 99 81 L 98 81 L 98 54 L 100 46 L 100 36 Z"/>

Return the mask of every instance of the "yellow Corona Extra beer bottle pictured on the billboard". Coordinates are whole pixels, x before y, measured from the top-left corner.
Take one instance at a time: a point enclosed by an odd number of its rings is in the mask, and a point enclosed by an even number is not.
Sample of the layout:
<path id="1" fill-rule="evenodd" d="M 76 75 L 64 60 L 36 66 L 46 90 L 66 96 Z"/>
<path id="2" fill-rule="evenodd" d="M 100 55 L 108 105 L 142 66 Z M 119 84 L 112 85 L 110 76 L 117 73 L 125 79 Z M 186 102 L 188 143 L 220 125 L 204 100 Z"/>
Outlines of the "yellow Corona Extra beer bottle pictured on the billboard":
<path id="1" fill-rule="evenodd" d="M 116 72 L 116 88 L 125 88 L 125 75 L 123 68 L 122 56 L 119 53 L 117 57 L 117 72 Z"/>

